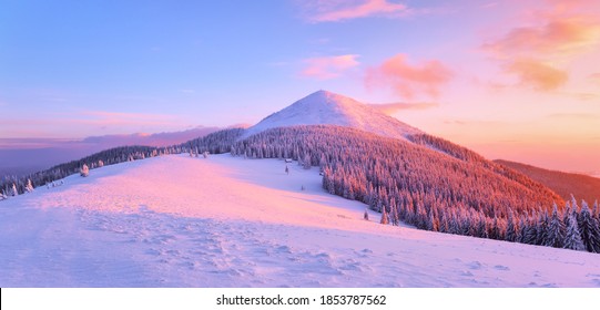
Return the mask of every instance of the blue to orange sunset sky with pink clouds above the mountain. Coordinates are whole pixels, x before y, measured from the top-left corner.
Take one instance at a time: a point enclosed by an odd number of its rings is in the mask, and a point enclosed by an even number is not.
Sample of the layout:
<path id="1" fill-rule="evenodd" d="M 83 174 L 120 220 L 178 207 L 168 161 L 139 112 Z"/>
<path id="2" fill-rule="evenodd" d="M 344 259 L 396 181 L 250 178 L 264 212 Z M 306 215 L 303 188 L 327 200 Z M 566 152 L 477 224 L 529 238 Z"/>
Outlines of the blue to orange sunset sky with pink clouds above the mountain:
<path id="1" fill-rule="evenodd" d="M 317 90 L 600 170 L 600 2 L 0 0 L 0 140 L 255 124 Z"/>

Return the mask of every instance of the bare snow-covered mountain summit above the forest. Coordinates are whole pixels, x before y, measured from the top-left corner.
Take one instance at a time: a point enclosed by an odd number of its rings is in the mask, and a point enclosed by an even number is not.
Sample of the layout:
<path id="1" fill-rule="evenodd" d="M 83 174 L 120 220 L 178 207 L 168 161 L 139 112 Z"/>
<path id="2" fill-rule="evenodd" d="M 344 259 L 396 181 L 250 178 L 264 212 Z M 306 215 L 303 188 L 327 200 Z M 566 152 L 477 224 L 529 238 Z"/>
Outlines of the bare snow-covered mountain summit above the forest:
<path id="1" fill-rule="evenodd" d="M 403 140 L 423 133 L 354 99 L 318 91 L 247 128 L 242 138 L 268 128 L 294 125 L 339 125 Z"/>

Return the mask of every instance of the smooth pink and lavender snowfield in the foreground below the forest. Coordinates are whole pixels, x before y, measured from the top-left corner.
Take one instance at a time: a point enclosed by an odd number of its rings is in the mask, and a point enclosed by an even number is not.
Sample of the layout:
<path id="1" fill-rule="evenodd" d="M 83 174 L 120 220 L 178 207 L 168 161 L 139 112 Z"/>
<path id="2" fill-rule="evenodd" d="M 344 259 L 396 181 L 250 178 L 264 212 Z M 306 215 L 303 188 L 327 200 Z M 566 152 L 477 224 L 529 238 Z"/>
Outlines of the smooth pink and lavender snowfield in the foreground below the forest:
<path id="1" fill-rule="evenodd" d="M 598 255 L 366 221 L 285 165 L 162 156 L 0 202 L 0 287 L 600 287 Z"/>

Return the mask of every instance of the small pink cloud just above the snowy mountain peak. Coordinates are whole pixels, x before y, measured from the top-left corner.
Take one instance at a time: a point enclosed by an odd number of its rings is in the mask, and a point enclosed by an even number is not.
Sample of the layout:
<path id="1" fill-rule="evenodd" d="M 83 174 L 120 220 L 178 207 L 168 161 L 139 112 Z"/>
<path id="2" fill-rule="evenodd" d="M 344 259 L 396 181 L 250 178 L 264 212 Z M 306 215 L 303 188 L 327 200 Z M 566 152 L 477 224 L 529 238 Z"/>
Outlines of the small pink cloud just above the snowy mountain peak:
<path id="1" fill-rule="evenodd" d="M 346 70 L 360 64 L 356 60 L 357 58 L 356 54 L 347 54 L 307 59 L 304 61 L 306 68 L 301 72 L 301 75 L 319 80 L 338 78 Z"/>

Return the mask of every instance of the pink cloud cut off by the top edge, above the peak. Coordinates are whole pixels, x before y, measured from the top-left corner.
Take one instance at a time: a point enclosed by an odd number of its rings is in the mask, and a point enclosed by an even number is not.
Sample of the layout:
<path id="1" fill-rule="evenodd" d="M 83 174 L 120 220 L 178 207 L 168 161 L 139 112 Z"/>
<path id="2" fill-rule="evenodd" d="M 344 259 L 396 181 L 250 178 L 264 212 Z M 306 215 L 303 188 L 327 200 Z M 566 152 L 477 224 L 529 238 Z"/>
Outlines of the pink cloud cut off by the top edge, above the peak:
<path id="1" fill-rule="evenodd" d="M 405 4 L 387 0 L 316 0 L 303 1 L 302 6 L 311 22 L 335 22 L 373 16 L 399 17 L 408 13 Z"/>

